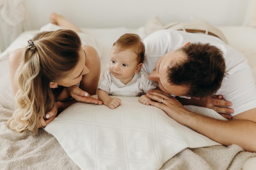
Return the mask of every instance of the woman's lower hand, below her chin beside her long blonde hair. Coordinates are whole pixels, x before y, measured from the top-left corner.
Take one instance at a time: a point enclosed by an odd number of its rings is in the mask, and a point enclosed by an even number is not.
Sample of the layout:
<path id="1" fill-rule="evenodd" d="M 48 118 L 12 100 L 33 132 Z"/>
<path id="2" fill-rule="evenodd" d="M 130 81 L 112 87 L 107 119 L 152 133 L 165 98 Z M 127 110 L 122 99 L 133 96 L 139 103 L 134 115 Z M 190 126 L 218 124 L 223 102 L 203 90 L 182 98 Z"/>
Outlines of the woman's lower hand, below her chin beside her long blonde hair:
<path id="1" fill-rule="evenodd" d="M 38 128 L 45 127 L 47 124 L 49 124 L 57 116 L 58 103 L 59 102 L 54 103 L 54 106 L 53 106 L 52 110 L 50 110 L 48 113 L 46 113 L 45 119 L 42 116 L 39 117 L 38 124 L 37 124 Z"/>

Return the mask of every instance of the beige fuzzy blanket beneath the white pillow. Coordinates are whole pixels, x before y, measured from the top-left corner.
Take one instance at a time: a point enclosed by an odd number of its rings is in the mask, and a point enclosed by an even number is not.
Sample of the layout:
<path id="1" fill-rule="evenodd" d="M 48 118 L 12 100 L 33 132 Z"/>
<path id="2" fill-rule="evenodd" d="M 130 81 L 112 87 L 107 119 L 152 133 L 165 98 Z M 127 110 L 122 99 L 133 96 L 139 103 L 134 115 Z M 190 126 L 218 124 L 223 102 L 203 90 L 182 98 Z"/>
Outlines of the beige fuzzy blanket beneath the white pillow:
<path id="1" fill-rule="evenodd" d="M 0 60 L 0 169 L 79 170 L 61 145 L 43 129 L 38 135 L 15 134 L 7 128 L 14 110 L 8 60 Z M 239 146 L 186 148 L 160 170 L 240 170 L 245 160 L 256 156 Z"/>

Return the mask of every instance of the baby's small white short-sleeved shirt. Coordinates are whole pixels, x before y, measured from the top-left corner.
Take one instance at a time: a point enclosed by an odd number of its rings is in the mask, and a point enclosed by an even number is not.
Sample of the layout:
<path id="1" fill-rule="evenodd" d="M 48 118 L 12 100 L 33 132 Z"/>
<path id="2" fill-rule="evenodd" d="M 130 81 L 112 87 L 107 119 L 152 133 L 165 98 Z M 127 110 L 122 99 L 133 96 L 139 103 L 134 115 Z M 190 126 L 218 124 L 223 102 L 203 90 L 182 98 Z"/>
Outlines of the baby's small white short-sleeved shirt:
<path id="1" fill-rule="evenodd" d="M 98 88 L 113 96 L 141 96 L 146 91 L 156 87 L 157 84 L 148 79 L 148 75 L 142 70 L 136 73 L 127 84 L 122 83 L 109 70 L 106 70 L 101 76 L 98 86 Z"/>

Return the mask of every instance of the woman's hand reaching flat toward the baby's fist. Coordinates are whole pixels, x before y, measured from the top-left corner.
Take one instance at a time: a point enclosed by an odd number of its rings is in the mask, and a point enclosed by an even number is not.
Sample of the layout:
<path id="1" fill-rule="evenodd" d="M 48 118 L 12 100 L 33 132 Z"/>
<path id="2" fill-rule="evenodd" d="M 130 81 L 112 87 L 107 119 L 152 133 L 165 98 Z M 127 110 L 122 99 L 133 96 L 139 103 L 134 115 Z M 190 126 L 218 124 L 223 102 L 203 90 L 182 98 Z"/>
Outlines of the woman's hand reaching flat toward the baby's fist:
<path id="1" fill-rule="evenodd" d="M 73 97 L 78 102 L 102 104 L 100 100 L 90 96 L 89 93 L 83 91 L 76 85 L 68 87 L 68 92 L 70 93 L 71 97 Z"/>

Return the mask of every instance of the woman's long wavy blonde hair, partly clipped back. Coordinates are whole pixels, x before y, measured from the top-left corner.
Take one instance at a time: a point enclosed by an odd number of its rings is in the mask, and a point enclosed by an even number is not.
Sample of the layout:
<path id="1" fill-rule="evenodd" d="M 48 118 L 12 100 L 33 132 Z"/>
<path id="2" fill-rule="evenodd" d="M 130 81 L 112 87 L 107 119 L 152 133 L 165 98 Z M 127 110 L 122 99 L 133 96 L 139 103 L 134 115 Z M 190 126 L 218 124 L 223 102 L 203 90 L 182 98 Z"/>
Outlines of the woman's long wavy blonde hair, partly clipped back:
<path id="1" fill-rule="evenodd" d="M 16 110 L 8 125 L 36 134 L 39 117 L 45 118 L 54 106 L 54 89 L 49 84 L 67 77 L 76 66 L 81 40 L 74 31 L 61 29 L 40 32 L 31 41 L 35 50 L 24 49 L 14 77 Z"/>

